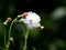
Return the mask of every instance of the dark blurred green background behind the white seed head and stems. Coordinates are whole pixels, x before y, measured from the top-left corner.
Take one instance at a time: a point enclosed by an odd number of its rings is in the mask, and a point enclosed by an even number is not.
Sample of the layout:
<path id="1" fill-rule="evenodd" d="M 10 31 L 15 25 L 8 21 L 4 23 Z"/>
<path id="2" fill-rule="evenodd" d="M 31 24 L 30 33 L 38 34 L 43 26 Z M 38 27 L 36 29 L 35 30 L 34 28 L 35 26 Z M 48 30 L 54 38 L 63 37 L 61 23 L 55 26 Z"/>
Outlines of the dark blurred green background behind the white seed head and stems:
<path id="1" fill-rule="evenodd" d="M 44 30 L 30 32 L 29 50 L 33 48 L 36 50 L 66 50 L 66 0 L 0 0 L 0 50 L 4 50 L 4 20 L 8 17 L 14 19 L 25 11 L 34 11 L 40 14 L 41 24 L 45 27 Z M 12 29 L 12 37 L 16 41 L 21 41 L 19 27 Z M 6 28 L 8 33 L 9 26 Z M 11 46 L 11 50 L 19 50 L 19 41 L 16 41 L 15 46 Z"/>

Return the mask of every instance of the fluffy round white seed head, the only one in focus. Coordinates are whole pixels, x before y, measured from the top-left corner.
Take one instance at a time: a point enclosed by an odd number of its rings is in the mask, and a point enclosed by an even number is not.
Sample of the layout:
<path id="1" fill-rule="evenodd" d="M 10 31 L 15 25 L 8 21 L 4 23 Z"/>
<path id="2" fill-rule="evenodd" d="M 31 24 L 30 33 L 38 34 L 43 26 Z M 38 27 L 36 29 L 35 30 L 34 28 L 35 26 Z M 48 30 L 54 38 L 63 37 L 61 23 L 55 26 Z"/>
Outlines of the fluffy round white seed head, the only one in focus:
<path id="1" fill-rule="evenodd" d="M 28 12 L 28 16 L 21 20 L 24 21 L 29 29 L 38 28 L 41 26 L 41 18 L 35 12 Z"/>

